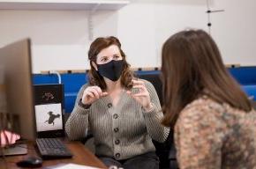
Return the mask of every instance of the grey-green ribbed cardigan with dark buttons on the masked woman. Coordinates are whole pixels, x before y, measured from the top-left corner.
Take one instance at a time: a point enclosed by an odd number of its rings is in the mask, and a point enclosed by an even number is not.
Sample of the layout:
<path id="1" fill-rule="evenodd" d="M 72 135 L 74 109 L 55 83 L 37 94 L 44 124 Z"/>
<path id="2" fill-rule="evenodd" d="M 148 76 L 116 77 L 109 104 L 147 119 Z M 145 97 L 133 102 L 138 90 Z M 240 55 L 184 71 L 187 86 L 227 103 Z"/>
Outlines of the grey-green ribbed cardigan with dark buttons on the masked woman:
<path id="1" fill-rule="evenodd" d="M 108 96 L 96 100 L 88 109 L 80 107 L 79 99 L 88 84 L 83 85 L 65 124 L 68 137 L 77 140 L 87 136 L 90 130 L 94 135 L 96 155 L 117 160 L 155 151 L 152 139 L 164 142 L 169 135 L 169 128 L 161 125 L 163 114 L 154 86 L 143 81 L 154 105 L 150 112 L 145 112 L 126 92 L 122 93 L 117 107 L 112 106 Z M 137 92 L 138 89 L 132 89 L 132 93 Z"/>

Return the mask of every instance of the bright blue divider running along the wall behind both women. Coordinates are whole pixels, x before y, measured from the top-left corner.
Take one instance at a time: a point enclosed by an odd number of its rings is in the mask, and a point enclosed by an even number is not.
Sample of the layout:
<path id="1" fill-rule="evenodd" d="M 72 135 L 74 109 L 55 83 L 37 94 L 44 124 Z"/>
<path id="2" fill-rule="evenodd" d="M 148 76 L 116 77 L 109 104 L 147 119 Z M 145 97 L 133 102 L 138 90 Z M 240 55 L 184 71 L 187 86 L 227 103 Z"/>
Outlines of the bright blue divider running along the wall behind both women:
<path id="1" fill-rule="evenodd" d="M 242 89 L 249 97 L 256 101 L 256 66 L 251 67 L 230 67 L 228 68 L 232 77 L 234 77 Z M 160 74 L 158 68 L 135 69 L 135 75 L 156 75 Z M 64 108 L 66 113 L 71 113 L 74 107 L 76 96 L 80 87 L 87 84 L 88 77 L 85 70 L 67 70 L 60 71 L 59 75 L 43 72 L 34 74 L 34 84 L 57 84 L 61 78 L 61 83 L 64 84 Z"/>

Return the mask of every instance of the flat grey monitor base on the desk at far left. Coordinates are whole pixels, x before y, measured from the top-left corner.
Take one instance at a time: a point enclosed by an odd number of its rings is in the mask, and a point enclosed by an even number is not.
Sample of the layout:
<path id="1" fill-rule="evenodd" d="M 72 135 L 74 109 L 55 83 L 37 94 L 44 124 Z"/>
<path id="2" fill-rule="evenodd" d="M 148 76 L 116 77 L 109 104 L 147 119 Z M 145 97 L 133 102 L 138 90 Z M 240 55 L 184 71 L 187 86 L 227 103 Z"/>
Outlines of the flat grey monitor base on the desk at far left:
<path id="1" fill-rule="evenodd" d="M 0 148 L 0 156 L 13 156 L 13 155 L 24 155 L 27 154 L 26 143 L 19 143 L 11 145 L 8 148 Z"/>

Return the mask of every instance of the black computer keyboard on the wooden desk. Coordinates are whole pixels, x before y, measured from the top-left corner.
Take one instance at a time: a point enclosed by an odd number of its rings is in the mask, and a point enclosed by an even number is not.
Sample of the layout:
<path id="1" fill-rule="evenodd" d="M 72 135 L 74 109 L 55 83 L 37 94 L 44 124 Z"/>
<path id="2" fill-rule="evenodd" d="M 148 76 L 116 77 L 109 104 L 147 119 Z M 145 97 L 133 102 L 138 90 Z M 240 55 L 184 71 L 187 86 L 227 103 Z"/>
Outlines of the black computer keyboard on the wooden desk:
<path id="1" fill-rule="evenodd" d="M 43 159 L 72 158 L 71 151 L 58 138 L 37 138 L 35 141 Z"/>

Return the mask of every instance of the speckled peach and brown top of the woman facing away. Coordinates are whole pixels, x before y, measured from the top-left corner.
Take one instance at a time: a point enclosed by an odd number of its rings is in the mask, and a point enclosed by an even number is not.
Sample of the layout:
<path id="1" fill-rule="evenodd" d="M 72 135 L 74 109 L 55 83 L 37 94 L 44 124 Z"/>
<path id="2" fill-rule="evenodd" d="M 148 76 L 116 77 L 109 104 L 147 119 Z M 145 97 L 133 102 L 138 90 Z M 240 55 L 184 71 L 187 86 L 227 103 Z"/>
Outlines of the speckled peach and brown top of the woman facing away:
<path id="1" fill-rule="evenodd" d="M 181 169 L 256 169 L 256 112 L 202 96 L 181 112 L 175 143 Z"/>

